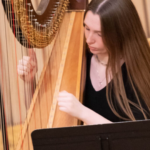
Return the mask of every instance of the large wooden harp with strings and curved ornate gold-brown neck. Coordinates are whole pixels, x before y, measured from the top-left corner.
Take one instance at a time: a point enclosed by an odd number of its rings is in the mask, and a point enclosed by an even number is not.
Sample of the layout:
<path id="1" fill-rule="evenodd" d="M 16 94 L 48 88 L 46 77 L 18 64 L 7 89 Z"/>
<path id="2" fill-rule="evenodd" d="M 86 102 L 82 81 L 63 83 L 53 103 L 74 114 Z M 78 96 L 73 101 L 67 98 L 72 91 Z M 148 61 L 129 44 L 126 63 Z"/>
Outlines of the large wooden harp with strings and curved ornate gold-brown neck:
<path id="1" fill-rule="evenodd" d="M 82 101 L 86 3 L 45 0 L 34 11 L 29 0 L 2 0 L 0 149 L 32 150 L 33 130 L 78 125 L 76 118 L 58 110 L 57 94 L 66 90 Z M 79 11 L 66 11 L 73 6 Z M 17 75 L 17 61 L 29 48 L 38 60 L 36 86 Z"/>

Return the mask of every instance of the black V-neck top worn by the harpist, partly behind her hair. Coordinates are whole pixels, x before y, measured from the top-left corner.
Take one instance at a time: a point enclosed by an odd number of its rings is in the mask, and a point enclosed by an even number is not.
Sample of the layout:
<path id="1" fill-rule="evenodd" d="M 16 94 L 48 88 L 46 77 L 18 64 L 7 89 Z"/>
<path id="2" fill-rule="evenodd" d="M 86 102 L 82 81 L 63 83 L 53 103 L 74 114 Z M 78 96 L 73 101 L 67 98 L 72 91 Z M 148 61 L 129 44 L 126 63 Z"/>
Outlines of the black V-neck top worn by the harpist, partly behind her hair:
<path id="1" fill-rule="evenodd" d="M 112 122 L 120 122 L 124 121 L 120 118 L 118 118 L 110 109 L 107 99 L 106 99 L 106 87 L 101 89 L 100 91 L 95 91 L 95 89 L 92 86 L 91 79 L 90 79 L 90 62 L 91 62 L 92 54 L 87 54 L 87 74 L 86 74 L 86 85 L 85 85 L 85 91 L 84 91 L 84 101 L 83 104 L 95 111 L 96 113 L 100 114 L 104 118 L 112 121 Z M 133 90 L 131 89 L 131 86 L 128 81 L 127 77 L 127 70 L 125 63 L 121 67 L 122 75 L 123 75 L 123 82 L 126 90 L 126 94 L 128 99 L 133 101 L 134 103 L 137 103 L 136 97 L 134 95 Z M 111 81 L 110 81 L 111 82 Z M 115 102 L 115 100 L 114 100 Z M 142 107 L 148 111 L 147 106 L 145 105 L 144 101 L 141 100 Z M 134 106 L 130 105 L 131 110 L 136 118 L 136 120 L 142 120 L 144 119 L 143 114 Z M 117 108 L 117 112 L 122 116 L 127 118 L 127 116 L 119 109 Z M 149 112 L 149 111 L 148 111 Z M 147 116 L 150 118 L 149 116 Z"/>

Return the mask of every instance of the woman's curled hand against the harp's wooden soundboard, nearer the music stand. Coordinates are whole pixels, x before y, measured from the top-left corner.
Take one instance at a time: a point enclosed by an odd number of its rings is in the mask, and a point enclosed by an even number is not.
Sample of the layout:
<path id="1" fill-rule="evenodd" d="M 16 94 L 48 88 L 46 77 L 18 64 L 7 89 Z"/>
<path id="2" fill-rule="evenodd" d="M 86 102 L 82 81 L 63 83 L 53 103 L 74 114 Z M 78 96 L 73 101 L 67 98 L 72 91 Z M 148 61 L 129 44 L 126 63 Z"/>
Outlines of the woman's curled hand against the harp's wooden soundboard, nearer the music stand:
<path id="1" fill-rule="evenodd" d="M 59 92 L 58 96 L 59 110 L 68 113 L 69 115 L 80 119 L 84 106 L 77 98 L 66 91 Z"/>

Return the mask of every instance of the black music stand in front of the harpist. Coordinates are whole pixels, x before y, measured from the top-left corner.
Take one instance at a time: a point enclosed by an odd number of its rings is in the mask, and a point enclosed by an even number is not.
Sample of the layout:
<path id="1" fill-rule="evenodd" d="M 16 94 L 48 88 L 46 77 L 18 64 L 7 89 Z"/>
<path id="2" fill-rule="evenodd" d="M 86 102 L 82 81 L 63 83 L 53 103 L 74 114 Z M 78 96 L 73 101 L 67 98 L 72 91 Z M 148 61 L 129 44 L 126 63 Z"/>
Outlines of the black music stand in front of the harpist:
<path id="1" fill-rule="evenodd" d="M 34 150 L 150 150 L 150 120 L 35 130 Z"/>

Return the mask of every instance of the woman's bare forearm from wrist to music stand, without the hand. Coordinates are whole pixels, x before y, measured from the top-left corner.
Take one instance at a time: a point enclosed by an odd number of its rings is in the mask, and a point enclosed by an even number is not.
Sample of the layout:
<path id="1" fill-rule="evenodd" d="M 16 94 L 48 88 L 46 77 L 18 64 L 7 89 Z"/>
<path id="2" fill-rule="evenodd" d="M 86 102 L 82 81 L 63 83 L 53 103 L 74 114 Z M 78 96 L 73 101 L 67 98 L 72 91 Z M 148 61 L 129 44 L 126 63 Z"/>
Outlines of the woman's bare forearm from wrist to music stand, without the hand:
<path id="1" fill-rule="evenodd" d="M 83 106 L 83 111 L 81 112 L 79 119 L 82 120 L 86 125 L 112 123 L 111 121 L 85 106 Z"/>

